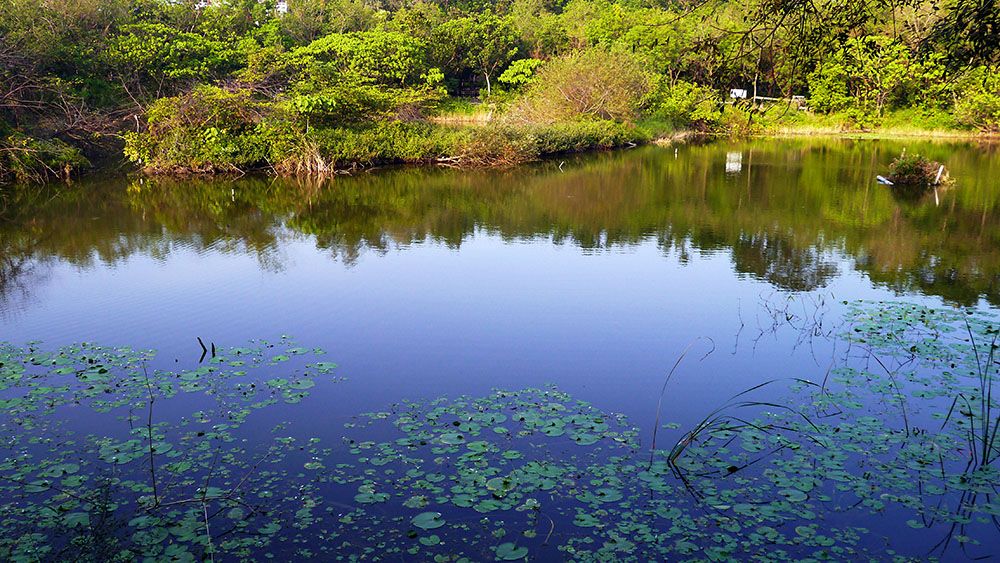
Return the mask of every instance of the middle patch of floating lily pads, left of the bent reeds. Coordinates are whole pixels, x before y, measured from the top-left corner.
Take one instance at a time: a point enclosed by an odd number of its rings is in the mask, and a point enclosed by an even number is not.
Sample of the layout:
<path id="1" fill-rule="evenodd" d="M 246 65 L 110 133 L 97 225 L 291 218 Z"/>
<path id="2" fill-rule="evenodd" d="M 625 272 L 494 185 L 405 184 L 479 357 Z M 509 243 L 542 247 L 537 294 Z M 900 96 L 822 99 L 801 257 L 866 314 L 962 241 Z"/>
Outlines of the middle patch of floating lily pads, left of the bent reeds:
<path id="1" fill-rule="evenodd" d="M 368 512 L 412 514 L 404 516 L 412 527 L 399 529 L 415 540 L 411 556 L 791 561 L 864 551 L 863 529 L 830 526 L 804 508 L 796 485 L 811 490 L 805 479 L 775 490 L 760 485 L 763 476 L 755 486 L 745 480 L 746 490 L 694 482 L 701 462 L 686 457 L 684 476 L 677 465 L 685 463 L 666 451 L 650 461 L 624 416 L 552 387 L 405 403 L 348 426 L 352 434 L 381 427 L 379 436 L 396 429 L 392 439 L 349 434 L 345 443 L 368 476 L 355 501 L 374 505 Z"/>

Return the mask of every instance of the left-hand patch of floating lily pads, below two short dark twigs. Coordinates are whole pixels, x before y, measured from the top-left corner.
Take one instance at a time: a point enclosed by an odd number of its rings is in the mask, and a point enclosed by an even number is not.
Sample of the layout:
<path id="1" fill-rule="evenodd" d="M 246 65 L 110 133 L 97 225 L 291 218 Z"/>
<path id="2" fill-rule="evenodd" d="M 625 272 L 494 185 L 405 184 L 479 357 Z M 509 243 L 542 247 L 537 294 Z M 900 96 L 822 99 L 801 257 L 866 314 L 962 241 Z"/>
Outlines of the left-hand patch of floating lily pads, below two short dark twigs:
<path id="1" fill-rule="evenodd" d="M 0 344 L 0 559 L 195 561 L 266 545 L 294 440 L 248 447 L 241 427 L 336 381 L 335 364 L 307 363 L 322 354 L 283 337 L 166 371 L 152 351 Z M 286 368 L 289 356 L 302 360 Z"/>

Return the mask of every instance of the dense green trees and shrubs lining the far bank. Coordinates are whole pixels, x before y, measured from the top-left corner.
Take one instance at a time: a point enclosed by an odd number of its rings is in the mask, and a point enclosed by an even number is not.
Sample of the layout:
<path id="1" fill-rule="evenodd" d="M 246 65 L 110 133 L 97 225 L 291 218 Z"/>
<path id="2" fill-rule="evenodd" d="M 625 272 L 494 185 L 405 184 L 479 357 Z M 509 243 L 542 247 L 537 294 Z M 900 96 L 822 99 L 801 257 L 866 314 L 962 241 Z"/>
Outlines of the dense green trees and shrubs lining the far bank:
<path id="1" fill-rule="evenodd" d="M 795 117 L 730 89 L 804 96 L 852 128 L 907 110 L 1000 129 L 992 3 L 975 18 L 932 0 L 205 4 L 0 3 L 0 178 L 66 176 L 123 147 L 171 173 L 510 162 L 549 150 L 520 138 L 539 126 L 561 124 L 562 149 L 586 146 L 595 120 L 625 124 L 607 137 L 628 142 Z M 432 125 L 477 95 L 488 131 Z"/>

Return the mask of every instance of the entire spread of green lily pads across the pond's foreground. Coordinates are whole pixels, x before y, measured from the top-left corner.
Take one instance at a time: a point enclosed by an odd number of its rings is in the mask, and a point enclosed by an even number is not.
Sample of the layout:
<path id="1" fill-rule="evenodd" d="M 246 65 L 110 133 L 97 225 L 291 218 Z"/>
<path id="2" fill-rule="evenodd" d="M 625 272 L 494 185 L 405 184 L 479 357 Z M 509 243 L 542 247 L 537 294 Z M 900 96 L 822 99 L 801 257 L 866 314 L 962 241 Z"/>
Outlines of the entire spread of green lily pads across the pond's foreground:
<path id="1" fill-rule="evenodd" d="M 676 444 L 654 452 L 623 415 L 553 386 L 402 400 L 319 436 L 294 419 L 250 432 L 255 407 L 335 389 L 322 351 L 285 339 L 182 371 L 128 348 L 5 345 L 0 559 L 994 555 L 997 323 L 847 311 L 828 375 L 667 425 Z"/>

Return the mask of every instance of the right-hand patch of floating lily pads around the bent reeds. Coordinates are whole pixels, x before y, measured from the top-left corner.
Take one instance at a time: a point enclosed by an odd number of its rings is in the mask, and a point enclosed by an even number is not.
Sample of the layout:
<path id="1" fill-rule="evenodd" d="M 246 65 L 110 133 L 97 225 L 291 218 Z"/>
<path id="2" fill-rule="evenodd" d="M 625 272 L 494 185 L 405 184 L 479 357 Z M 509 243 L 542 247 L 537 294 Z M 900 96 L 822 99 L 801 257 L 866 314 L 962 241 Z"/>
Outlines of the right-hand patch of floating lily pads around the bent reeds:
<path id="1" fill-rule="evenodd" d="M 829 374 L 781 401 L 724 405 L 668 463 L 703 503 L 756 522 L 747 537 L 812 545 L 816 559 L 853 558 L 847 546 L 872 550 L 874 537 L 917 560 L 997 557 L 1000 322 L 846 305 L 846 352 Z M 834 520 L 853 526 L 825 530 Z"/>

